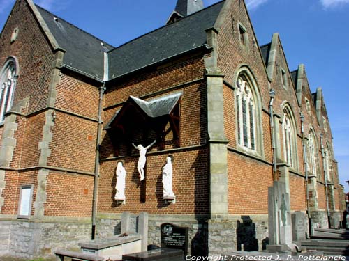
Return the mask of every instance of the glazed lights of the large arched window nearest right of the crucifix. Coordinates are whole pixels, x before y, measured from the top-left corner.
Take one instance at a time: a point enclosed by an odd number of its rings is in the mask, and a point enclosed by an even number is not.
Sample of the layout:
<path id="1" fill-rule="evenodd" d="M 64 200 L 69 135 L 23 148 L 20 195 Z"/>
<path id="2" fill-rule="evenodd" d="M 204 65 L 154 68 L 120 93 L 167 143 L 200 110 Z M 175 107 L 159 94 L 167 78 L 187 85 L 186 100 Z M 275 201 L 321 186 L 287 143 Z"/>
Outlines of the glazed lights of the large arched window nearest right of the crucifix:
<path id="1" fill-rule="evenodd" d="M 237 143 L 249 150 L 255 148 L 255 101 L 251 86 L 244 75 L 237 79 Z"/>

